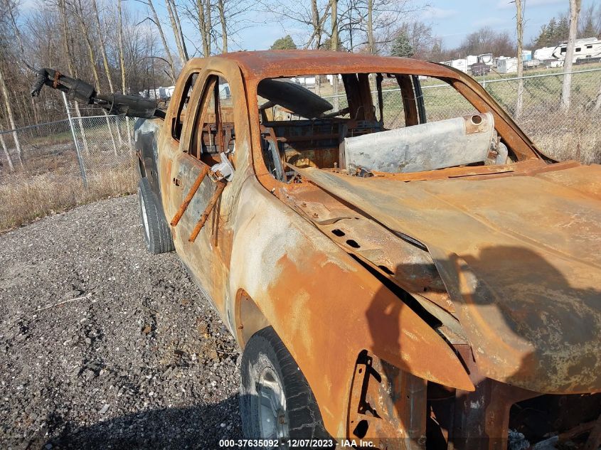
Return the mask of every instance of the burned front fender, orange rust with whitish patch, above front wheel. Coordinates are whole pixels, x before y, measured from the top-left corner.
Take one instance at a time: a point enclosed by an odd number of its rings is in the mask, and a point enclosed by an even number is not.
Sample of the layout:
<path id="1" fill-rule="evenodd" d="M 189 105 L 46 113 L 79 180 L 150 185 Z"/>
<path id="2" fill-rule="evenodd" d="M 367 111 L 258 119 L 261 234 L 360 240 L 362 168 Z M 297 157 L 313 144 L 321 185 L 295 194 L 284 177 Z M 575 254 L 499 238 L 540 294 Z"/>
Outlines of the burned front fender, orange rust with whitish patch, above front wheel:
<path id="1" fill-rule="evenodd" d="M 331 434 L 346 434 L 363 350 L 425 380 L 474 389 L 436 331 L 254 178 L 233 217 L 230 298 L 244 289 L 255 301 L 307 377 Z"/>

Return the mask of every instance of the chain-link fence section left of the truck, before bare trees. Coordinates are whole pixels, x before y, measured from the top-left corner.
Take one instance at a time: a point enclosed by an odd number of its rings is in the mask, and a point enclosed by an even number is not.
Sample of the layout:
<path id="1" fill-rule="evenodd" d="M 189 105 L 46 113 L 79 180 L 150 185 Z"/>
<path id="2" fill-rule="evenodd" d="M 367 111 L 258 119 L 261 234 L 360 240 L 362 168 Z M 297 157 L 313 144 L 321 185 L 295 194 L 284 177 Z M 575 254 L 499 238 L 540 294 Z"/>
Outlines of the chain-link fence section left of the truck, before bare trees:
<path id="1" fill-rule="evenodd" d="M 0 230 L 134 192 L 133 128 L 100 115 L 0 132 Z"/>

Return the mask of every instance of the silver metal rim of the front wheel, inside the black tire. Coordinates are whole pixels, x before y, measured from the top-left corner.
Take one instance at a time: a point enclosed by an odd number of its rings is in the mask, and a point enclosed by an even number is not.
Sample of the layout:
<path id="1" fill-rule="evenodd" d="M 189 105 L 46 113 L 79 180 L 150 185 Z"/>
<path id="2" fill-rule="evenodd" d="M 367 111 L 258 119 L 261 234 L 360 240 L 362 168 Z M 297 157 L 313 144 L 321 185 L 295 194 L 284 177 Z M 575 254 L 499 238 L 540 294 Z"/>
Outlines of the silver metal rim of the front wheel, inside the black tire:
<path id="1" fill-rule="evenodd" d="M 280 377 L 272 368 L 262 370 L 257 384 L 257 396 L 262 439 L 287 439 L 286 397 Z"/>

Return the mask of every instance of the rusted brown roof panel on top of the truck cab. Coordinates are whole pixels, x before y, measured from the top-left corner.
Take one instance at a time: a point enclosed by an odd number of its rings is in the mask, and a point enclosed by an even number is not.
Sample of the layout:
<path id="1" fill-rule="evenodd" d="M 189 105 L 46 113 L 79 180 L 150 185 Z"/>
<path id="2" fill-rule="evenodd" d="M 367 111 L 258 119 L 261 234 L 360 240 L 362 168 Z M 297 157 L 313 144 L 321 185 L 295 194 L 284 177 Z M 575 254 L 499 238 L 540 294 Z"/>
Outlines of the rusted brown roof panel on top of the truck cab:
<path id="1" fill-rule="evenodd" d="M 457 78 L 455 70 L 437 63 L 365 53 L 323 50 L 259 50 L 225 53 L 207 59 L 231 61 L 240 67 L 247 79 L 373 72 L 412 73 Z M 202 60 L 203 58 L 194 58 L 191 63 L 203 65 Z"/>

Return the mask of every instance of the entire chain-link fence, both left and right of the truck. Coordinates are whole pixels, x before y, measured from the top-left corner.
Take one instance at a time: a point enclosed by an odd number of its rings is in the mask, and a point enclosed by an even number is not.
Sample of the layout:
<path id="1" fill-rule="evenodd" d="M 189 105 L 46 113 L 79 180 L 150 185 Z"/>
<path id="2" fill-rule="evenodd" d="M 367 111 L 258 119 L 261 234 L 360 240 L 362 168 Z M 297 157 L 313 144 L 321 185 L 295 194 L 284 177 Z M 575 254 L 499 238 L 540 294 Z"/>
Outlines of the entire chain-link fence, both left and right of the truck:
<path id="1" fill-rule="evenodd" d="M 601 163 L 601 68 L 572 73 L 571 105 L 560 109 L 563 73 L 523 77 L 518 114 L 516 77 L 487 75 L 479 82 L 538 147 L 555 159 Z M 387 128 L 404 126 L 403 99 L 395 80 L 385 80 L 382 102 Z M 440 80 L 423 78 L 428 122 L 474 112 L 457 91 Z M 325 94 L 322 90 L 322 94 Z M 377 92 L 374 105 L 379 109 Z M 346 96 L 324 97 L 336 109 Z M 99 114 L 98 109 L 82 109 Z M 88 201 L 135 190 L 134 119 L 100 115 L 59 120 L 0 132 L 0 230 Z M 73 125 L 73 127 L 71 127 Z M 21 153 L 18 152 L 20 144 Z M 11 170 L 11 164 L 14 170 Z"/>

